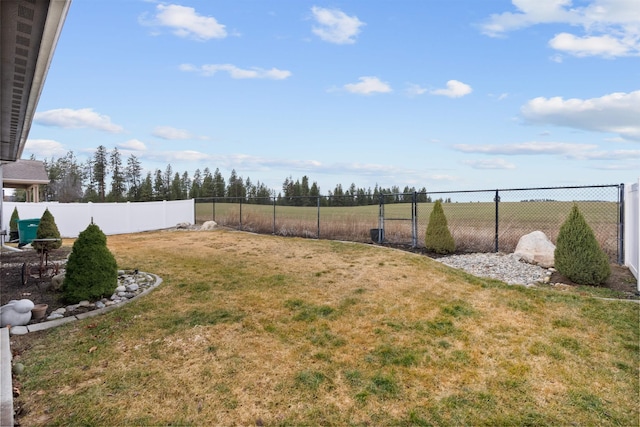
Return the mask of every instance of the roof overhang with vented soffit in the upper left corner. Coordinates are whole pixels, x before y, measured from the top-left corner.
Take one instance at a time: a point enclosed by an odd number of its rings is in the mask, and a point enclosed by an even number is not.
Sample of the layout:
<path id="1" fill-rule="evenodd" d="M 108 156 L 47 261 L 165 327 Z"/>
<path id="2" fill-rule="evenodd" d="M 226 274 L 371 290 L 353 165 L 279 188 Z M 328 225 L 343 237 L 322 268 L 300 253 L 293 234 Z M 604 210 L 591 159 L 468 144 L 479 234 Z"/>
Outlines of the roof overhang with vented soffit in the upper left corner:
<path id="1" fill-rule="evenodd" d="M 22 156 L 71 0 L 0 1 L 0 163 Z"/>

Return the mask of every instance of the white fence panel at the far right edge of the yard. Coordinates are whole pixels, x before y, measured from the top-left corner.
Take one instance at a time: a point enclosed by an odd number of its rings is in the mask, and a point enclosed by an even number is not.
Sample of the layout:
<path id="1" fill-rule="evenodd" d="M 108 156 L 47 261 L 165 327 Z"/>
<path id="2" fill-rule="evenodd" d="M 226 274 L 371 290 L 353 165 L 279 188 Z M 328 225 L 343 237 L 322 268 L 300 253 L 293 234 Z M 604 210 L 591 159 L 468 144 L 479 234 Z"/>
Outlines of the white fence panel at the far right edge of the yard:
<path id="1" fill-rule="evenodd" d="M 624 196 L 624 263 L 638 279 L 640 291 L 640 178 L 633 185 L 625 186 Z"/>

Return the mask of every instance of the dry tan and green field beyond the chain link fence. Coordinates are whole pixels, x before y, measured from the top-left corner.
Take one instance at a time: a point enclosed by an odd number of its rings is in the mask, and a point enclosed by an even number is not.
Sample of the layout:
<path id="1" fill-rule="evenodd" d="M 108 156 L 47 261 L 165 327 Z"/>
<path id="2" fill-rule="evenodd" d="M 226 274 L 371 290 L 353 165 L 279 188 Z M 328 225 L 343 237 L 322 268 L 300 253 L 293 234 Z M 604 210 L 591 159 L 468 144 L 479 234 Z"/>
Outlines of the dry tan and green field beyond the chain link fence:
<path id="1" fill-rule="evenodd" d="M 498 207 L 498 247 L 512 252 L 520 237 L 543 231 L 555 242 L 558 231 L 574 202 L 500 202 Z M 618 255 L 618 205 L 615 202 L 577 202 L 602 248 L 611 261 Z M 444 203 L 449 228 L 462 252 L 491 252 L 495 249 L 495 203 Z M 411 203 L 384 205 L 385 239 L 411 245 Z M 416 241 L 424 245 L 424 235 L 433 203 L 417 205 Z M 228 227 L 282 236 L 370 241 L 372 228 L 378 228 L 379 206 L 295 207 L 242 205 L 238 203 L 197 203 L 196 222 L 215 221 Z"/>

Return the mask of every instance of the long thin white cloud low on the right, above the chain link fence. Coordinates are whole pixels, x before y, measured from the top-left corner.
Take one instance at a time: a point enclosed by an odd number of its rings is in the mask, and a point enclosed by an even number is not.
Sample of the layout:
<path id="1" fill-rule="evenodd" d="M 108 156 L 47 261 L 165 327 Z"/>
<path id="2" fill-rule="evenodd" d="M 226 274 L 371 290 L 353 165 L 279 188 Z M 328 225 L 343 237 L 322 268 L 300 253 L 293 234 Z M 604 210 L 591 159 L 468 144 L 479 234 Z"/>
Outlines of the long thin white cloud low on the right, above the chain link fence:
<path id="1" fill-rule="evenodd" d="M 521 142 L 515 144 L 456 144 L 454 150 L 463 153 L 482 153 L 499 155 L 541 155 L 541 154 L 563 154 L 570 157 L 577 157 L 578 154 L 587 150 L 594 150 L 598 146 L 595 144 L 571 144 L 567 142 Z"/>

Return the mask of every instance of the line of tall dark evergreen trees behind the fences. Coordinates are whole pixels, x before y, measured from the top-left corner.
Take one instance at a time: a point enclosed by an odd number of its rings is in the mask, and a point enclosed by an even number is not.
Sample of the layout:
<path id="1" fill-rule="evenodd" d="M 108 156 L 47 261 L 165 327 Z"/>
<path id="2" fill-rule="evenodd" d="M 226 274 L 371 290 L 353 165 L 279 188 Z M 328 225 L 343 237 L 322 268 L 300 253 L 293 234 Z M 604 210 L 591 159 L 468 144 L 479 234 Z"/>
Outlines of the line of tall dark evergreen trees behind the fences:
<path id="1" fill-rule="evenodd" d="M 31 156 L 32 160 L 37 160 Z M 356 206 L 377 204 L 380 198 L 385 203 L 410 202 L 414 192 L 418 192 L 419 202 L 430 202 L 426 188 L 397 186 L 382 188 L 376 184 L 371 188 L 356 187 L 351 184 L 344 188 L 341 184 L 333 191 L 321 194 L 316 182 L 310 182 L 306 175 L 294 181 L 285 178 L 280 191 L 255 183 L 247 177 L 239 176 L 235 169 L 225 178 L 218 168 L 212 173 L 208 167 L 189 172 L 174 171 L 171 164 L 164 170 L 143 174 L 143 167 L 134 154 L 123 159 L 117 148 L 110 152 L 100 145 L 94 155 L 80 162 L 73 151 L 60 158 L 43 160 L 49 177 L 49 184 L 41 188 L 41 200 L 60 203 L 78 202 L 149 202 L 158 200 L 185 200 L 215 198 L 229 202 L 272 204 L 291 206 Z M 16 201 L 24 201 L 26 193 L 17 190 Z"/>

